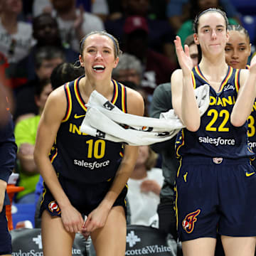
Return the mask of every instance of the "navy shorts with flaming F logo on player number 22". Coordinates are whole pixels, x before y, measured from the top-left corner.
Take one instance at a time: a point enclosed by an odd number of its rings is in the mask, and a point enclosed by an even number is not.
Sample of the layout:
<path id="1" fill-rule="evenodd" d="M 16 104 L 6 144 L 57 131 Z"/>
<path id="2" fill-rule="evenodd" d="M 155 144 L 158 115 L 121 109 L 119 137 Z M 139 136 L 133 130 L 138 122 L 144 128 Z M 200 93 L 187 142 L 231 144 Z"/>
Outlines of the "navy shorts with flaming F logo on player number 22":
<path id="1" fill-rule="evenodd" d="M 176 178 L 178 238 L 256 236 L 255 173 L 247 158 L 184 156 Z"/>

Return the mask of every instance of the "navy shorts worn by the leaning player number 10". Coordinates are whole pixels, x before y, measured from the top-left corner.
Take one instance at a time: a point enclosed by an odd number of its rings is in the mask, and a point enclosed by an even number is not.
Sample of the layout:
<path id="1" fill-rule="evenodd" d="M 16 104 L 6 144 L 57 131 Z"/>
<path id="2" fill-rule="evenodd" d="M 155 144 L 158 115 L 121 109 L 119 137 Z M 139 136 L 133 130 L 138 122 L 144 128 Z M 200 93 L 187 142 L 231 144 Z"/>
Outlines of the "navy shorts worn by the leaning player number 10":
<path id="1" fill-rule="evenodd" d="M 89 215 L 97 206 L 100 205 L 101 201 L 105 197 L 107 191 L 109 191 L 112 185 L 111 181 L 105 181 L 100 183 L 78 183 L 78 181 L 71 181 L 63 176 L 58 176 L 58 180 L 63 188 L 63 191 L 68 196 L 70 203 L 82 214 Z M 123 190 L 117 197 L 113 206 L 122 206 L 125 214 L 127 195 L 127 186 L 124 186 Z M 48 210 L 52 216 L 60 216 L 60 208 L 57 201 L 53 198 L 46 184 L 44 183 L 43 198 L 41 201 L 40 215 L 43 210 Z"/>

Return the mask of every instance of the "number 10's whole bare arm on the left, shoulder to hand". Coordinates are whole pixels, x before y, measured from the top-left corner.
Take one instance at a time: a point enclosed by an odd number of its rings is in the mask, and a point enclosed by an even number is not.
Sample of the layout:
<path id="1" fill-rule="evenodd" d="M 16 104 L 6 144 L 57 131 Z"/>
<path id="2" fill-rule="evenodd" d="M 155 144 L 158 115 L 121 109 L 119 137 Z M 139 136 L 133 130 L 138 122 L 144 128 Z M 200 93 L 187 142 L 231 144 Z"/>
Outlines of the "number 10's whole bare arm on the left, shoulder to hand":
<path id="1" fill-rule="evenodd" d="M 65 92 L 63 87 L 59 87 L 49 95 L 41 115 L 36 136 L 34 159 L 43 180 L 60 207 L 65 229 L 73 233 L 82 229 L 82 216 L 71 206 L 48 157 L 60 123 L 65 116 L 66 107 Z"/>

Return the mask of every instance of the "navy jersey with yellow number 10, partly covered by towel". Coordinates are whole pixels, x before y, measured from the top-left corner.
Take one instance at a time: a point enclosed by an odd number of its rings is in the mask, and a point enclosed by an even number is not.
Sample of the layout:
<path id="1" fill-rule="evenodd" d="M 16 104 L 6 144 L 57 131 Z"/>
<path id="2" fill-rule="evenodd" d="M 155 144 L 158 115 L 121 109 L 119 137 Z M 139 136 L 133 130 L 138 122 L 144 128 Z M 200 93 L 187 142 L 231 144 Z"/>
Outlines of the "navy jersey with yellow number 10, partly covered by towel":
<path id="1" fill-rule="evenodd" d="M 87 111 L 78 87 L 80 78 L 64 85 L 68 107 L 50 159 L 55 171 L 65 178 L 85 183 L 107 181 L 116 174 L 124 148 L 122 143 L 80 132 Z M 127 112 L 126 88 L 115 80 L 112 80 L 112 85 L 112 104 Z"/>

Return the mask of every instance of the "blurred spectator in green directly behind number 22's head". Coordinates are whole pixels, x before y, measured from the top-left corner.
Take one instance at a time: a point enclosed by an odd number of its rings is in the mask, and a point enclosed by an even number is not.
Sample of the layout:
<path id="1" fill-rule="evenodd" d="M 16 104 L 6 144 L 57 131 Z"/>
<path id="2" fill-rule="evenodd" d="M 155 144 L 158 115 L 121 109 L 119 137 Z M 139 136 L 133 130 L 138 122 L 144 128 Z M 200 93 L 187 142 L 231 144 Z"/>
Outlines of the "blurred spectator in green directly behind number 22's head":
<path id="1" fill-rule="evenodd" d="M 220 4 L 218 0 L 207 0 L 207 1 L 202 1 L 202 0 L 190 0 L 190 9 L 189 9 L 189 14 L 190 19 L 182 23 L 181 28 L 178 30 L 177 35 L 181 37 L 181 43 L 184 45 L 184 41 L 187 38 L 187 36 L 193 34 L 193 19 L 196 17 L 198 13 L 201 11 L 204 11 L 210 7 L 213 8 L 220 8 Z M 228 21 L 230 24 L 238 24 L 237 21 L 233 18 L 228 18 Z"/>

